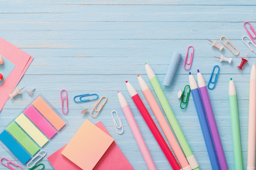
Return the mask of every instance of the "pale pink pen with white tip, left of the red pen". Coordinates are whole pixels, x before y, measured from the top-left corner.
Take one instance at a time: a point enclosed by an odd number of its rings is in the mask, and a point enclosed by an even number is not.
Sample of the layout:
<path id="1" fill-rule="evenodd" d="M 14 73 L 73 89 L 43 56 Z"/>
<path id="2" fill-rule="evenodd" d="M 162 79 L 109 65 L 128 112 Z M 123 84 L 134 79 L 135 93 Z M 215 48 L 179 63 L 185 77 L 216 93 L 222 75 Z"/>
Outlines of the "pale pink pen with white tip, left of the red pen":
<path id="1" fill-rule="evenodd" d="M 132 130 L 132 134 L 139 146 L 139 150 L 141 151 L 141 154 L 146 162 L 146 165 L 148 167 L 148 170 L 156 170 L 157 168 L 155 167 L 155 163 L 153 162 L 153 159 L 148 151 L 148 148 L 146 146 L 146 143 L 141 135 L 141 132 L 139 130 L 139 127 L 132 115 L 132 111 L 130 110 L 130 107 L 122 95 L 121 92 L 117 91 L 117 96 L 119 99 L 119 103 L 121 105 L 121 108 L 124 112 L 124 115 L 126 117 L 126 120 L 130 126 L 130 129 Z"/>

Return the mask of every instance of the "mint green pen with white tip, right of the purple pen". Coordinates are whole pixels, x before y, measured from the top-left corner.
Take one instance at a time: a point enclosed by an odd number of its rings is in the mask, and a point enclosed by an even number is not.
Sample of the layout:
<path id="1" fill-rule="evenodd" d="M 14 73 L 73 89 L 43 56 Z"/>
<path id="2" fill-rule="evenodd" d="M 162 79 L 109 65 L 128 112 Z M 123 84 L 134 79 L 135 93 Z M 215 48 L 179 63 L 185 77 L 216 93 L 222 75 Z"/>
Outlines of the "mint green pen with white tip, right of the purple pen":
<path id="1" fill-rule="evenodd" d="M 230 115 L 231 115 L 231 128 L 232 128 L 235 168 L 236 170 L 242 170 L 243 165 L 242 165 L 242 152 L 241 152 L 240 130 L 239 130 L 239 120 L 238 120 L 236 87 L 232 78 L 230 78 L 230 81 L 229 81 L 229 106 L 230 106 Z"/>

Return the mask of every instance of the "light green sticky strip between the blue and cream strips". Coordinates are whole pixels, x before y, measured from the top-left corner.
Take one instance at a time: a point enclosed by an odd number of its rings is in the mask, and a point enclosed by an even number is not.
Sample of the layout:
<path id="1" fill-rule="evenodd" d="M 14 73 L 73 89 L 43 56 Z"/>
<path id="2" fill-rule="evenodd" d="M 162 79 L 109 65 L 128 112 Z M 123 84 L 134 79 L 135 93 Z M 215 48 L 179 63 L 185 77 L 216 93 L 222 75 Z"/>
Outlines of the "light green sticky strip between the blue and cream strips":
<path id="1" fill-rule="evenodd" d="M 23 132 L 20 127 L 11 122 L 9 126 L 7 126 L 6 130 L 29 152 L 32 156 L 36 154 L 39 150 L 39 147 L 36 146 L 34 141 L 32 141 L 25 132 Z"/>

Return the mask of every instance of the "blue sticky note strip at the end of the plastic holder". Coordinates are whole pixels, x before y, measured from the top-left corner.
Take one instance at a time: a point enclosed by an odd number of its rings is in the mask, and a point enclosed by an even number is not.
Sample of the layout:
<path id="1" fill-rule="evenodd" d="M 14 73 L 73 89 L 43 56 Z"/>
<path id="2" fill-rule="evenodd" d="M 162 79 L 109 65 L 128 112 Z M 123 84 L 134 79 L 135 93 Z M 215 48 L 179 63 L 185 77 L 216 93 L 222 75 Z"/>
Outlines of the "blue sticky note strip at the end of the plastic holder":
<path id="1" fill-rule="evenodd" d="M 23 164 L 31 159 L 29 153 L 6 130 L 0 133 L 0 140 Z"/>

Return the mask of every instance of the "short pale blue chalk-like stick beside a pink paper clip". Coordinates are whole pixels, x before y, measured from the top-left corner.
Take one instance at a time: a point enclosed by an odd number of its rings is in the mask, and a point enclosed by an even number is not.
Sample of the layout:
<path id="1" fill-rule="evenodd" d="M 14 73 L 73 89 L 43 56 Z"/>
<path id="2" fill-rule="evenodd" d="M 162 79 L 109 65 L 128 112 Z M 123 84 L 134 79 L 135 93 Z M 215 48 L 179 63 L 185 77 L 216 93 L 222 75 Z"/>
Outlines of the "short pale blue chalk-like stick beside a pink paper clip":
<path id="1" fill-rule="evenodd" d="M 171 62 L 167 68 L 167 72 L 166 72 L 166 75 L 164 77 L 164 86 L 170 86 L 172 81 L 173 81 L 173 77 L 175 75 L 175 72 L 176 72 L 176 69 L 177 69 L 177 66 L 180 62 L 180 58 L 181 58 L 181 54 L 180 53 L 176 53 L 176 52 L 173 52 L 173 55 L 171 57 Z"/>

